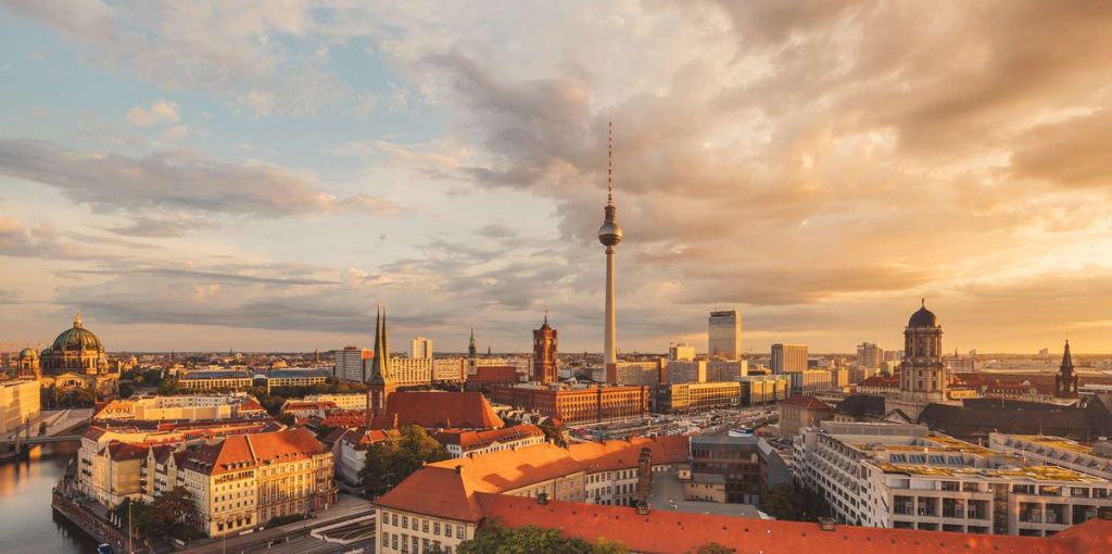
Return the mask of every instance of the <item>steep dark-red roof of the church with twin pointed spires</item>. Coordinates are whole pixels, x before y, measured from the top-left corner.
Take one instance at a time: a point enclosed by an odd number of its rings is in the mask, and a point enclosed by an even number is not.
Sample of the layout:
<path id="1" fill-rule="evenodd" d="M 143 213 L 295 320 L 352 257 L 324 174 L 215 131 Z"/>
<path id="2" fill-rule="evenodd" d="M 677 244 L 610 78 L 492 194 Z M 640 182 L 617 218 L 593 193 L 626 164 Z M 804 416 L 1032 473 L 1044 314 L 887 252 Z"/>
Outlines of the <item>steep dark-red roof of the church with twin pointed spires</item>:
<path id="1" fill-rule="evenodd" d="M 483 393 L 417 390 L 391 394 L 386 400 L 386 415 L 376 417 L 371 427 L 385 429 L 406 425 L 429 429 L 495 429 L 506 424 L 494 413 Z"/>

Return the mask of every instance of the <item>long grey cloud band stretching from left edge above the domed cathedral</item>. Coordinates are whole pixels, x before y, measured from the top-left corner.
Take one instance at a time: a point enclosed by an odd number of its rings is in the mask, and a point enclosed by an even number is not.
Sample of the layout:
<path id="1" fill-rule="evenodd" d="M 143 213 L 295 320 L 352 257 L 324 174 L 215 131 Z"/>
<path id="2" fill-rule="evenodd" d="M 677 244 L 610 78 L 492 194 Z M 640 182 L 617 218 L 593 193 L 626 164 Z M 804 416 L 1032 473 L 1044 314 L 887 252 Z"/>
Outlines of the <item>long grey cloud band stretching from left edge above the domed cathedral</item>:
<path id="1" fill-rule="evenodd" d="M 368 195 L 337 198 L 317 188 L 311 177 L 281 167 L 229 164 L 183 151 L 132 158 L 0 139 L 0 174 L 52 186 L 79 204 L 138 212 L 286 217 L 396 209 L 391 201 Z"/>

